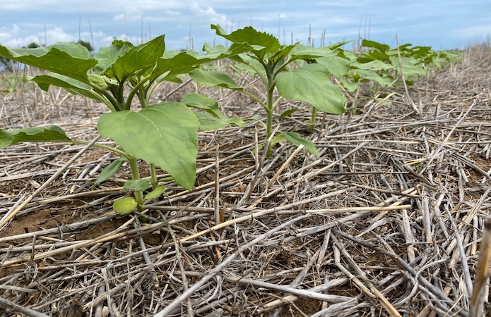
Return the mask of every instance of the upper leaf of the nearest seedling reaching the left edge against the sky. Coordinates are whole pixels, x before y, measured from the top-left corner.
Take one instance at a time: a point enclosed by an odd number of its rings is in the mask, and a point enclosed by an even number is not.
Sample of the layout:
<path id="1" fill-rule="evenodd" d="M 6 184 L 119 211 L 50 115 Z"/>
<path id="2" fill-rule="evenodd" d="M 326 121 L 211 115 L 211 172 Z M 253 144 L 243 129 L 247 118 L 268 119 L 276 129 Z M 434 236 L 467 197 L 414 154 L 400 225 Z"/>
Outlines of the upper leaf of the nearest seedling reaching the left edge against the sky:
<path id="1" fill-rule="evenodd" d="M 8 49 L 0 45 L 0 56 L 81 82 L 88 82 L 87 72 L 97 64 L 84 46 L 71 42 L 59 42 L 36 49 Z"/>

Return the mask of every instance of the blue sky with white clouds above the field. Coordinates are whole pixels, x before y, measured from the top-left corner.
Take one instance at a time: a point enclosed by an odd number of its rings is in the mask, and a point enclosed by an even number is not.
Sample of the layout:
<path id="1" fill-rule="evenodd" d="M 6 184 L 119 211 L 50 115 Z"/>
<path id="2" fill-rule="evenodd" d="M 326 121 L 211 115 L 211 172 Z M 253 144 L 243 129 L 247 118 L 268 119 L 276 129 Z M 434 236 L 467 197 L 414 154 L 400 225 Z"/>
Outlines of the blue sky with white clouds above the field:
<path id="1" fill-rule="evenodd" d="M 165 34 L 167 49 L 225 44 L 215 37 L 211 23 L 229 32 L 252 25 L 285 44 L 292 37 L 307 44 L 311 25 L 314 46 L 319 46 L 325 30 L 326 44 L 360 34 L 395 46 L 398 35 L 400 44 L 462 49 L 491 34 L 491 1 L 0 1 L 0 43 L 5 46 L 76 42 L 79 23 L 81 39 L 92 42 L 96 50 L 114 36 L 136 44 Z"/>

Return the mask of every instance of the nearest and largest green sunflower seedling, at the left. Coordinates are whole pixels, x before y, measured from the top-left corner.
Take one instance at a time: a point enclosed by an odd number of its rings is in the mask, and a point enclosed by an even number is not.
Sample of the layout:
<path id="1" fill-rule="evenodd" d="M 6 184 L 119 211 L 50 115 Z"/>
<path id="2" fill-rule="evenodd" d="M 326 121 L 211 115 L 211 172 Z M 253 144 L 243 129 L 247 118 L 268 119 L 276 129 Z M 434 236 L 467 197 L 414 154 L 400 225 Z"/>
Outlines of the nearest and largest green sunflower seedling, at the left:
<path id="1" fill-rule="evenodd" d="M 191 189 L 194 186 L 200 128 L 210 128 L 211 122 L 214 127 L 242 124 L 240 120 L 225 118 L 218 105 L 203 99 L 205 97 L 191 96 L 187 101 L 190 106 L 208 112 L 206 118 L 200 117 L 203 125 L 187 104 L 150 104 L 155 87 L 163 80 L 176 80 L 177 75 L 188 73 L 202 63 L 242 53 L 248 47 L 237 44 L 229 50 L 208 55 L 165 51 L 162 35 L 138 46 L 114 39 L 111 46 L 102 47 L 93 57 L 85 47 L 69 42 L 37 49 L 8 49 L 0 45 L 0 56 L 51 72 L 31 78 L 41 89 L 58 86 L 110 108 L 112 112 L 100 116 L 97 130 L 102 137 L 112 138 L 119 147 L 96 146 L 114 151 L 121 159 L 105 168 L 97 182 L 111 178 L 127 161 L 132 180 L 124 187 L 134 192 L 134 198 L 117 201 L 114 210 L 129 213 L 135 207 L 141 209 L 146 199 L 158 197 L 165 189 L 158 186 L 155 166 L 166 170 L 182 187 Z M 135 96 L 140 101 L 139 110 L 131 109 Z M 57 126 L 0 130 L 0 147 L 19 142 L 84 143 L 70 139 Z M 150 164 L 150 181 L 141 179 L 138 159 Z M 150 185 L 153 191 L 144 196 L 143 192 Z"/>

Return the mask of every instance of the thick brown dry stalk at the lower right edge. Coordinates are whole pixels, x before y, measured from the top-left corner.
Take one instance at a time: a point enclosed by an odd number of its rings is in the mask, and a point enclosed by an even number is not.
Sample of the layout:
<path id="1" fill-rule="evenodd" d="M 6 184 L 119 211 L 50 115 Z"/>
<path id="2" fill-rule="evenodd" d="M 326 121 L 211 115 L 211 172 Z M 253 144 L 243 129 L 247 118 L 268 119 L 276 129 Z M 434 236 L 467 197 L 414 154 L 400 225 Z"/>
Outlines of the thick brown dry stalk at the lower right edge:
<path id="1" fill-rule="evenodd" d="M 485 289 L 490 274 L 491 260 L 491 218 L 484 223 L 483 241 L 481 241 L 478 264 L 475 269 L 474 289 L 471 304 L 469 305 L 469 317 L 483 316 L 483 304 L 486 297 Z"/>

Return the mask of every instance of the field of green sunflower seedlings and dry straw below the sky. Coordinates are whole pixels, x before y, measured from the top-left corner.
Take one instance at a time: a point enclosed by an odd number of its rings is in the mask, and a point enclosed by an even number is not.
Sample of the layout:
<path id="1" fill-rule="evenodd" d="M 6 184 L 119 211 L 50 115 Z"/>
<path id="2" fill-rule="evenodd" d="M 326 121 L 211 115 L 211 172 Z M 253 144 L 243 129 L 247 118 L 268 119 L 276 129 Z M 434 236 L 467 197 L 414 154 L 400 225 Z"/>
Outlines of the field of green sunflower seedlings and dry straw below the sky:
<path id="1" fill-rule="evenodd" d="M 489 43 L 212 28 L 0 46 L 0 316 L 491 316 Z"/>

